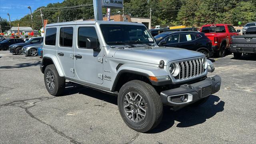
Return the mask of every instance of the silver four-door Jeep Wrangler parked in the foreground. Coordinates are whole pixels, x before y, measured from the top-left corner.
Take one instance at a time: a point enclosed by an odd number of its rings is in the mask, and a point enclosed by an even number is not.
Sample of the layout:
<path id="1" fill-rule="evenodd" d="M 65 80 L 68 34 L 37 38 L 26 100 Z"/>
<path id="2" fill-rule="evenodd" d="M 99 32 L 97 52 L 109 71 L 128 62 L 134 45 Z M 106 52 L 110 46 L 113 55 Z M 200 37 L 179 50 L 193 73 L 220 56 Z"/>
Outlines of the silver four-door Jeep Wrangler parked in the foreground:
<path id="1" fill-rule="evenodd" d="M 221 78 L 199 53 L 157 46 L 143 24 L 80 21 L 47 24 L 43 60 L 46 89 L 61 95 L 65 82 L 118 95 L 124 122 L 138 132 L 156 127 L 163 105 L 199 105 L 220 90 Z"/>

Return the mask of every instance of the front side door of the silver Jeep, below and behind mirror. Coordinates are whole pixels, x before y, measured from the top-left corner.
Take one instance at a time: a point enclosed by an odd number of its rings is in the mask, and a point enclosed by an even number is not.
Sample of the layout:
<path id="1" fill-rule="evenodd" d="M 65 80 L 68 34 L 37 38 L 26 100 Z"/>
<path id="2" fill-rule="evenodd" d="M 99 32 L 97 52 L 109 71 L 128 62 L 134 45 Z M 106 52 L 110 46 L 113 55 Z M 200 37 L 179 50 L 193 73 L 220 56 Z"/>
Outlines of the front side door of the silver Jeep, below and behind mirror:
<path id="1" fill-rule="evenodd" d="M 74 53 L 75 70 L 79 79 L 97 84 L 103 83 L 103 50 L 96 52 L 86 48 L 87 38 L 97 38 L 95 26 L 77 25 L 77 44 Z M 101 47 L 101 46 L 100 46 Z"/>

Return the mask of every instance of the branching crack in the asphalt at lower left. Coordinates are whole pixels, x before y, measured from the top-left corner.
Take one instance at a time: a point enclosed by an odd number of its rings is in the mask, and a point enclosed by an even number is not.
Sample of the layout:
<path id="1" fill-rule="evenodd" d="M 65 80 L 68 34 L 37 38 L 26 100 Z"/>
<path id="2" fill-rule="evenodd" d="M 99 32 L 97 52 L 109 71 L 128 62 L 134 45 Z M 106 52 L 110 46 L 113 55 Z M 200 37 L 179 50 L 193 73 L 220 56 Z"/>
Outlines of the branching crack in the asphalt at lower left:
<path id="1" fill-rule="evenodd" d="M 47 124 L 46 122 L 40 120 L 39 118 L 36 118 L 28 109 L 32 108 L 33 106 L 36 106 L 37 102 L 42 102 L 44 100 L 49 100 L 49 99 L 53 99 L 56 97 L 47 97 L 47 98 L 32 98 L 32 99 L 28 99 L 28 100 L 16 100 L 13 102 L 10 102 L 8 104 L 2 104 L 0 105 L 0 107 L 4 107 L 4 106 L 18 106 L 20 108 L 23 108 L 25 110 L 25 112 L 31 117 L 34 118 L 35 120 L 37 120 L 38 122 L 49 126 L 55 133 L 59 134 L 60 136 L 67 138 L 70 140 L 70 142 L 74 143 L 74 144 L 81 144 L 80 142 L 77 142 L 76 140 L 74 140 L 73 138 L 67 136 L 66 134 L 64 134 L 62 131 L 57 130 L 56 128 L 54 128 L 54 126 L 51 126 L 50 124 Z M 30 102 L 32 101 L 32 102 Z"/>

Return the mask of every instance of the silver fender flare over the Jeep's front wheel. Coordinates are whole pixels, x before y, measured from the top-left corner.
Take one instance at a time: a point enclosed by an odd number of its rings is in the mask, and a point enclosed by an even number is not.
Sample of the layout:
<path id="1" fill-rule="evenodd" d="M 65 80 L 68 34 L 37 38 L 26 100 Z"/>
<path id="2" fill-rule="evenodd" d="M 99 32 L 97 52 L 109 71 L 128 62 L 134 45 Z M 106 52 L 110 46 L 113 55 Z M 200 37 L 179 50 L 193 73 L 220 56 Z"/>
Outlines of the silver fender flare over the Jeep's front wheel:
<path id="1" fill-rule="evenodd" d="M 123 64 L 118 68 L 118 71 L 116 72 L 115 75 L 115 80 L 111 84 L 110 90 L 113 92 L 116 84 L 123 73 L 132 73 L 132 74 L 138 74 L 142 75 L 148 78 L 148 76 L 166 76 L 169 75 L 168 72 L 164 69 L 160 69 L 157 66 L 141 66 L 138 64 Z M 164 84 L 171 84 L 172 81 L 164 81 L 164 82 L 153 82 L 149 78 L 148 80 L 152 83 L 152 85 L 164 85 Z"/>

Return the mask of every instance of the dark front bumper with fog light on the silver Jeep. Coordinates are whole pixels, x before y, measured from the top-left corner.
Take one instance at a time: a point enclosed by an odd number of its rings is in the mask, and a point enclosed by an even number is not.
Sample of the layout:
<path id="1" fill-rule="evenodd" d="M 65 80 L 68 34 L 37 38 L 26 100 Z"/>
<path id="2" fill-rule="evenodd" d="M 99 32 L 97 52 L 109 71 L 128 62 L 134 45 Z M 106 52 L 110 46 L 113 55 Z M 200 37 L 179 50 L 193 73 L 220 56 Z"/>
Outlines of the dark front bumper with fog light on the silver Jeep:
<path id="1" fill-rule="evenodd" d="M 184 84 L 179 88 L 162 91 L 160 98 L 165 105 L 182 108 L 218 92 L 220 85 L 221 78 L 216 75 L 194 84 Z M 182 96 L 185 98 L 184 101 L 182 101 Z"/>

